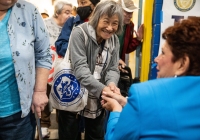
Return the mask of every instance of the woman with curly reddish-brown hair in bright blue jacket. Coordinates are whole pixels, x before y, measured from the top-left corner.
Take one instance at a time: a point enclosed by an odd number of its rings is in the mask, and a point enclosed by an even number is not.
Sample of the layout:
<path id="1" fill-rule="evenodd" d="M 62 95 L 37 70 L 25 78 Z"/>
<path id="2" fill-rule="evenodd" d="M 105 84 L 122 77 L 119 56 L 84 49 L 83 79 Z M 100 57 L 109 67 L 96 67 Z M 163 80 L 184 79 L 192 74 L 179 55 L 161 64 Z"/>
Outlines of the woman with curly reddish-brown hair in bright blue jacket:
<path id="1" fill-rule="evenodd" d="M 160 79 L 132 85 L 127 100 L 103 93 L 101 103 L 112 111 L 106 140 L 200 139 L 200 18 L 176 23 L 162 37 Z"/>

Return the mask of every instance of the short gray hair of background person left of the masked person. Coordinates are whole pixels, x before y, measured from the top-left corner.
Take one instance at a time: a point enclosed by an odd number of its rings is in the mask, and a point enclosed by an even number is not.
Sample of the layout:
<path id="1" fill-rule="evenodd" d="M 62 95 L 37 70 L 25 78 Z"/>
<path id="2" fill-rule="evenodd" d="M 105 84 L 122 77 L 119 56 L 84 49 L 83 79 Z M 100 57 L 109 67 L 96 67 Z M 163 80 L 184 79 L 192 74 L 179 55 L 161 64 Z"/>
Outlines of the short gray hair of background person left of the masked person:
<path id="1" fill-rule="evenodd" d="M 69 6 L 72 7 L 72 4 L 68 1 L 57 1 L 57 2 L 55 2 L 55 4 L 54 4 L 54 14 L 53 14 L 54 18 L 57 18 L 56 14 L 58 14 L 58 15 L 61 14 L 63 7 L 65 5 L 69 5 Z"/>

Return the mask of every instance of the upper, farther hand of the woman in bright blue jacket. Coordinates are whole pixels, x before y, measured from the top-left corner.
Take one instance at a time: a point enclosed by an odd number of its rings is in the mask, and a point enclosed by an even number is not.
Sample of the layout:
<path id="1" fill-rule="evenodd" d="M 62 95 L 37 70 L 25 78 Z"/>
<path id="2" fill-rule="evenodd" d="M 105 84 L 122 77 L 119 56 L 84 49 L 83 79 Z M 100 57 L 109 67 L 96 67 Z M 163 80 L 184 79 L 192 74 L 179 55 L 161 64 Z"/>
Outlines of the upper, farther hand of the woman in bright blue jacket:
<path id="1" fill-rule="evenodd" d="M 119 94 L 103 92 L 102 95 L 115 99 L 122 107 L 127 103 L 127 98 Z"/>

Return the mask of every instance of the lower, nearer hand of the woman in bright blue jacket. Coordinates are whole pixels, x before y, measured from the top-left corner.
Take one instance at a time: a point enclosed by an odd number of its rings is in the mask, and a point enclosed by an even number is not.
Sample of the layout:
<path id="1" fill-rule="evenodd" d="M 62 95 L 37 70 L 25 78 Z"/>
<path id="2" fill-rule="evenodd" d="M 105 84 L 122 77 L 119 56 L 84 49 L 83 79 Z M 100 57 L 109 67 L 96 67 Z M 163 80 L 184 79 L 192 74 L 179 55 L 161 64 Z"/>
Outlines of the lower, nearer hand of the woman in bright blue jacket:
<path id="1" fill-rule="evenodd" d="M 118 112 L 122 111 L 122 106 L 115 99 L 112 99 L 104 95 L 102 95 L 101 97 L 103 99 L 101 101 L 101 105 L 103 108 L 109 111 L 118 111 Z"/>

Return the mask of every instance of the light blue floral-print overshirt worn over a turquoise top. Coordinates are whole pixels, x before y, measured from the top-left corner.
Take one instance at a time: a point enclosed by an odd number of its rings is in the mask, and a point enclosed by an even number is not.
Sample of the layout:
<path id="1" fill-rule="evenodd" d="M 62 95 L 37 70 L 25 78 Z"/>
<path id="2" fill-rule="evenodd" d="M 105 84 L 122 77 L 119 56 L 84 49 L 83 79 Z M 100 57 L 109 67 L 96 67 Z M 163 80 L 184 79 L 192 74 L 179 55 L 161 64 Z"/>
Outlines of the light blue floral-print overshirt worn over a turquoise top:
<path id="1" fill-rule="evenodd" d="M 36 68 L 51 68 L 49 36 L 38 10 L 23 0 L 13 6 L 7 30 L 25 117 L 30 112 Z"/>

